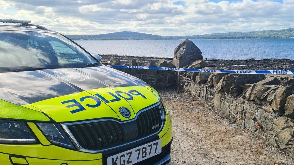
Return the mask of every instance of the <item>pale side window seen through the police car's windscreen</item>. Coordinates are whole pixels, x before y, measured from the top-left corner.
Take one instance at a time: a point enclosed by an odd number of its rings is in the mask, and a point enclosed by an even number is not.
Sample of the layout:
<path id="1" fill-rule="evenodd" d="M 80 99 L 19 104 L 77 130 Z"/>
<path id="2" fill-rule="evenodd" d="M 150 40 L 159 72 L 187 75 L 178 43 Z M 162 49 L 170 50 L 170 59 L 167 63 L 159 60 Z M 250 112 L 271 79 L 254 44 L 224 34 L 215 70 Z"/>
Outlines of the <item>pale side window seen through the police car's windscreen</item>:
<path id="1" fill-rule="evenodd" d="M 84 58 L 80 54 L 73 51 L 70 47 L 59 41 L 49 41 L 53 50 L 56 53 L 58 63 L 68 64 L 68 63 L 84 63 Z"/>

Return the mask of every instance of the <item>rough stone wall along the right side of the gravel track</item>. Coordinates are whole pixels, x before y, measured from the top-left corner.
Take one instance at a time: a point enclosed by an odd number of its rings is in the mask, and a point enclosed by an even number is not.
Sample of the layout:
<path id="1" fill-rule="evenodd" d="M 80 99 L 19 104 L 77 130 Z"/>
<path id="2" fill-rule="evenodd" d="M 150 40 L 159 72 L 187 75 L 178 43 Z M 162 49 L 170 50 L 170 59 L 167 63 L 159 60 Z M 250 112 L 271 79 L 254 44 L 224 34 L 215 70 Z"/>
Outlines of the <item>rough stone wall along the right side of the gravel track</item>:
<path id="1" fill-rule="evenodd" d="M 294 155 L 294 79 L 281 82 L 265 75 L 179 73 L 180 89 L 214 106 L 225 118 L 271 145 Z"/>

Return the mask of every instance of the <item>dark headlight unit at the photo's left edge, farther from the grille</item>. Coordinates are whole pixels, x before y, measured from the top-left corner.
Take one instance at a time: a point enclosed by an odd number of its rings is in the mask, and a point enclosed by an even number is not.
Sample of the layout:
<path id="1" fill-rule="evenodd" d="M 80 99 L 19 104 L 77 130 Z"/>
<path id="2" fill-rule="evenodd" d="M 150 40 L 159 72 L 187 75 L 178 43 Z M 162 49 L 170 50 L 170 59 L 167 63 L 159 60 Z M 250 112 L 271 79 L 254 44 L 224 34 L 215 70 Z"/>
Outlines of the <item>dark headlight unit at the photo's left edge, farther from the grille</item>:
<path id="1" fill-rule="evenodd" d="M 36 144 L 38 141 L 22 121 L 0 120 L 0 143 L 2 144 Z"/>

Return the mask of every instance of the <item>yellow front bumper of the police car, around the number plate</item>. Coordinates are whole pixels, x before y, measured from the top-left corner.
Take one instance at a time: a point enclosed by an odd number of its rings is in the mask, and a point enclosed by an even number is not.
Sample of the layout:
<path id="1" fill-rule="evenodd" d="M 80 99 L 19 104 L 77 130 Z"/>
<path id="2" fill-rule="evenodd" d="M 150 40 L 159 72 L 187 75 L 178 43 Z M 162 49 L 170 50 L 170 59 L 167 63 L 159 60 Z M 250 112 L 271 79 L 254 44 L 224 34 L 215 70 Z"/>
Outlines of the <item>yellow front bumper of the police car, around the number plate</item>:
<path id="1" fill-rule="evenodd" d="M 34 125 L 29 124 L 30 128 L 33 130 L 41 144 L 39 145 L 0 145 L 0 164 L 1 165 L 102 165 L 105 164 L 105 160 L 108 156 L 114 153 L 120 153 L 124 150 L 134 148 L 134 145 L 142 145 L 146 140 L 161 139 L 162 151 L 167 150 L 165 154 L 155 155 L 158 156 L 154 163 L 148 164 L 166 164 L 170 161 L 170 149 L 172 142 L 172 124 L 170 116 L 167 115 L 164 127 L 161 132 L 151 139 L 146 139 L 145 141 L 137 142 L 136 144 L 129 145 L 128 148 L 118 148 L 113 151 L 107 151 L 103 153 L 85 153 L 80 151 L 69 150 L 66 148 L 61 148 L 52 145 L 45 136 L 40 132 L 40 130 Z M 145 160 L 143 160 L 145 161 Z M 140 162 L 139 162 L 140 163 Z"/>

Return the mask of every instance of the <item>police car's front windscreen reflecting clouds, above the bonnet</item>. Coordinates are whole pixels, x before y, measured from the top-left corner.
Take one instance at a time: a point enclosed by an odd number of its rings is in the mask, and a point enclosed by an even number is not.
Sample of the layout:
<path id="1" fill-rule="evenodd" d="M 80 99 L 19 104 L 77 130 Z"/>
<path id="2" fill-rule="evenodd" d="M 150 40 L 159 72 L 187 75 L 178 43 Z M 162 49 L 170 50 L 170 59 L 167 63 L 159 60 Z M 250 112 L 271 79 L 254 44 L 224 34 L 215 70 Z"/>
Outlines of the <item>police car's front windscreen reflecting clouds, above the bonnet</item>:
<path id="1" fill-rule="evenodd" d="M 0 31 L 0 72 L 79 68 L 94 63 L 92 56 L 60 34 Z"/>

